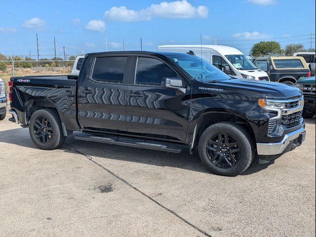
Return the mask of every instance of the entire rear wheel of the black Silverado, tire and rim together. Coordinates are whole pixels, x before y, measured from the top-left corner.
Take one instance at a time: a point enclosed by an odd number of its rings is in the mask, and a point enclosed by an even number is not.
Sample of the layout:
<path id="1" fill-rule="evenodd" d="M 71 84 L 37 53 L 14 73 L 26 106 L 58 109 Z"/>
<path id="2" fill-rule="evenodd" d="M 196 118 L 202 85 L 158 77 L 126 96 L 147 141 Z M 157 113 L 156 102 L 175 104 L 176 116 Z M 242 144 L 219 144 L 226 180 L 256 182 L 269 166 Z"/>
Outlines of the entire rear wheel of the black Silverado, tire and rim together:
<path id="1" fill-rule="evenodd" d="M 36 111 L 30 119 L 29 132 L 34 144 L 43 150 L 56 149 L 66 139 L 59 115 L 54 109 Z"/>

